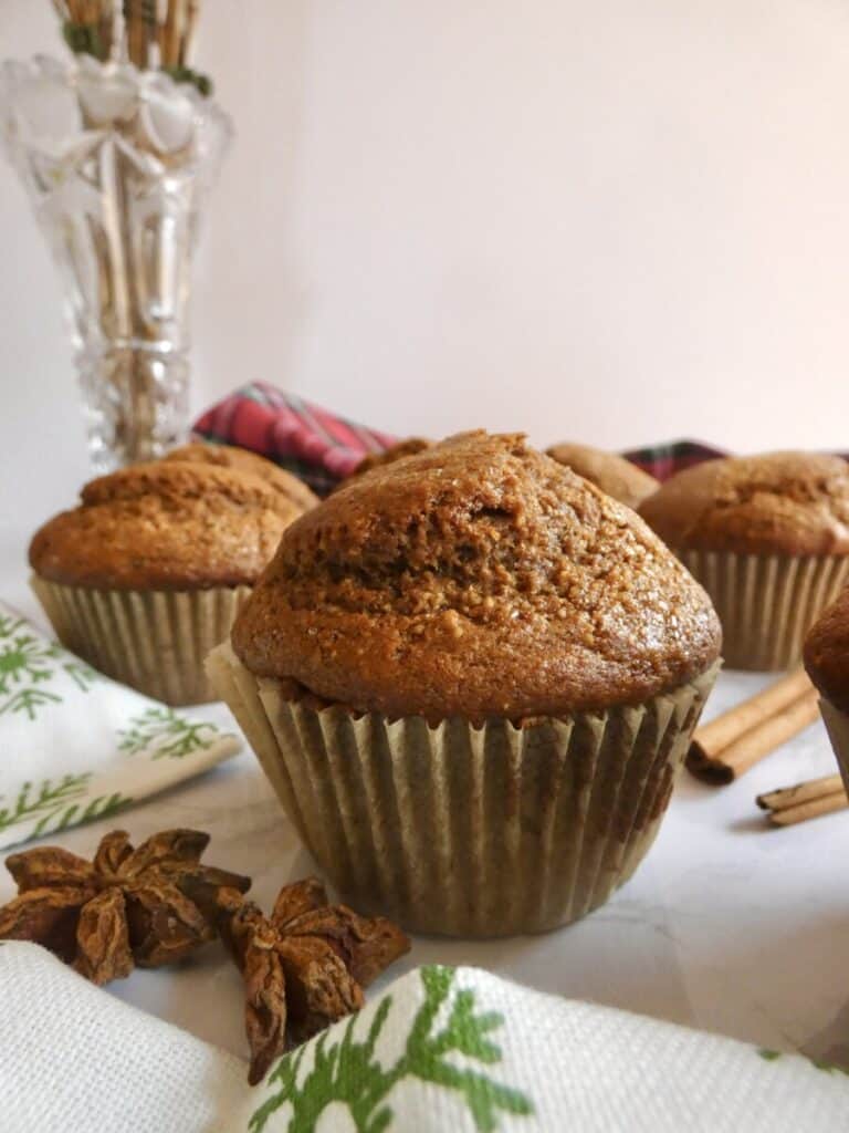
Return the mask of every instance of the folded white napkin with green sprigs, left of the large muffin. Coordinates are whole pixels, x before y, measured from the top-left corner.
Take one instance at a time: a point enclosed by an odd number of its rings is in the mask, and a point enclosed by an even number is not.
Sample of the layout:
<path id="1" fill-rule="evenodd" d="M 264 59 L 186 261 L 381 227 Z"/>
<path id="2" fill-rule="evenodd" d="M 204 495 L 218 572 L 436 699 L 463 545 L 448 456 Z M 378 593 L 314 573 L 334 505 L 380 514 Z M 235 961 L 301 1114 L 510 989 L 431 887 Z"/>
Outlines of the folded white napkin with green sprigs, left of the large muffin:
<path id="1" fill-rule="evenodd" d="M 240 747 L 97 673 L 0 602 L 0 849 L 123 810 Z"/>

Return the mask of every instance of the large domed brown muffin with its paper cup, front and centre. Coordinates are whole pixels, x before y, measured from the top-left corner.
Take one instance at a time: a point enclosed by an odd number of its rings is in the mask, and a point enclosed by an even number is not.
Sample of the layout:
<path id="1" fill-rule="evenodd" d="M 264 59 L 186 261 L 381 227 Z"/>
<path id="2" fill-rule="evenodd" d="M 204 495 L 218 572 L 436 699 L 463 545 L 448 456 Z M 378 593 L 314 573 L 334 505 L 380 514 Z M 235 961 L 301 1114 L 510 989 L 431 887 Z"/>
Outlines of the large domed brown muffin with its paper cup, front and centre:
<path id="1" fill-rule="evenodd" d="M 634 512 L 478 432 L 288 528 L 207 668 L 344 894 L 499 936 L 631 876 L 719 649 L 707 596 Z"/>

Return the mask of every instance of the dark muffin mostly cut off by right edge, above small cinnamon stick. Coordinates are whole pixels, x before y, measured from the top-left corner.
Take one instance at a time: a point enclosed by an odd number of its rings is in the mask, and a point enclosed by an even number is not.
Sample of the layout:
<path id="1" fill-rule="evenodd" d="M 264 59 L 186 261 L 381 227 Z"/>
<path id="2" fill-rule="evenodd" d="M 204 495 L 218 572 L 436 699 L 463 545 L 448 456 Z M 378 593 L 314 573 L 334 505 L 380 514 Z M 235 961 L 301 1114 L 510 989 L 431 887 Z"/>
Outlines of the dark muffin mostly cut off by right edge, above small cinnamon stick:
<path id="1" fill-rule="evenodd" d="M 820 692 L 820 712 L 849 791 L 849 588 L 805 638 L 805 668 Z"/>

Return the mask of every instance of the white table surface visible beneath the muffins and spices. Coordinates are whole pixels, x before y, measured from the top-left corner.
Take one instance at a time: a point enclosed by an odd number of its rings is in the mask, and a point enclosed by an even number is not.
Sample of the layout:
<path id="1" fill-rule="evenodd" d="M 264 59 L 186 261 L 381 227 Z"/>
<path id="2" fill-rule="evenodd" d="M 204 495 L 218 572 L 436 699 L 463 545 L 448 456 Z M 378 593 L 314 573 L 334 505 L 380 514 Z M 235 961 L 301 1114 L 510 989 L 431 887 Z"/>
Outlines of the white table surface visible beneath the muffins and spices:
<path id="1" fill-rule="evenodd" d="M 0 597 L 43 624 L 26 585 L 25 546 L 25 536 L 7 526 Z M 770 680 L 722 674 L 704 718 Z M 223 705 L 198 714 L 235 729 Z M 651 853 L 604 908 L 542 936 L 418 937 L 393 971 L 475 964 L 543 991 L 849 1066 L 849 812 L 775 829 L 754 802 L 762 791 L 834 770 L 817 722 L 730 786 L 706 787 L 684 773 Z M 283 884 L 314 870 L 247 747 L 136 807 L 123 823 L 136 840 L 171 826 L 208 830 L 208 860 L 250 875 L 266 906 Z M 112 825 L 69 830 L 62 844 L 88 855 Z M 3 874 L 0 902 L 12 893 Z M 217 948 L 179 970 L 136 971 L 109 991 L 246 1055 L 240 979 Z"/>

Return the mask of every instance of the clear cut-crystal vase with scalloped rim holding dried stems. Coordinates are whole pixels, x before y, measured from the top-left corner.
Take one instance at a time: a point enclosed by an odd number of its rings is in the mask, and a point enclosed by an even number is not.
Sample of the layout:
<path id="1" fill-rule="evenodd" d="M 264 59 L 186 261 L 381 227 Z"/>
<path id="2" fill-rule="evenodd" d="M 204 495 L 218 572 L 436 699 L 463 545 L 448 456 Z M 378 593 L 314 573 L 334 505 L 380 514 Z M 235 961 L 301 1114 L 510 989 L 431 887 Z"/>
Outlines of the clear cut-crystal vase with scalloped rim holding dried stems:
<path id="1" fill-rule="evenodd" d="M 185 437 L 191 261 L 231 136 L 161 71 L 86 56 L 0 68 L 0 137 L 62 275 L 96 471 Z"/>

